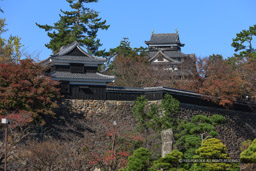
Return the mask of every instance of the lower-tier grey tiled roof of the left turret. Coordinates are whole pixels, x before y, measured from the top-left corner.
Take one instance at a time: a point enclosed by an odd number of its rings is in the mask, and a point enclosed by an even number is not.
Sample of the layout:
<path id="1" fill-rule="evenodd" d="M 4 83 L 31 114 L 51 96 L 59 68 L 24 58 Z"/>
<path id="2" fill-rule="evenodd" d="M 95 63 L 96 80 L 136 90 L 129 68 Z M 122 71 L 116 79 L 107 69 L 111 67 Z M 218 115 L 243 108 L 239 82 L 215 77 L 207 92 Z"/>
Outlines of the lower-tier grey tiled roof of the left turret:
<path id="1" fill-rule="evenodd" d="M 85 80 L 114 80 L 114 76 L 103 75 L 100 73 L 71 73 L 71 72 L 52 72 L 49 76 L 53 79 L 85 79 Z"/>

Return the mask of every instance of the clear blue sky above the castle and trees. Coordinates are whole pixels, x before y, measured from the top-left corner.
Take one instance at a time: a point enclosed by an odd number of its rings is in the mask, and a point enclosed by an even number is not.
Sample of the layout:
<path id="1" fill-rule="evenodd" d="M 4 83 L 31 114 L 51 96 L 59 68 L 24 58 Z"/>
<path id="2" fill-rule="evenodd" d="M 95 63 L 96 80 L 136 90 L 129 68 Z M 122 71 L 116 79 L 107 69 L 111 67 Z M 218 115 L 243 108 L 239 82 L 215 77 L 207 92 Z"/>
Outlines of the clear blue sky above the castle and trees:
<path id="1" fill-rule="evenodd" d="M 4 36 L 18 35 L 26 52 L 40 53 L 41 60 L 49 57 L 51 51 L 44 44 L 50 39 L 35 22 L 58 21 L 60 9 L 69 9 L 66 0 L 1 0 L 0 6 L 8 29 Z M 256 24 L 255 0 L 99 0 L 88 6 L 110 25 L 98 34 L 101 49 L 106 50 L 118 46 L 123 37 L 129 38 L 132 47 L 146 47 L 144 41 L 152 30 L 172 33 L 177 28 L 185 43 L 182 52 L 229 57 L 236 33 Z"/>

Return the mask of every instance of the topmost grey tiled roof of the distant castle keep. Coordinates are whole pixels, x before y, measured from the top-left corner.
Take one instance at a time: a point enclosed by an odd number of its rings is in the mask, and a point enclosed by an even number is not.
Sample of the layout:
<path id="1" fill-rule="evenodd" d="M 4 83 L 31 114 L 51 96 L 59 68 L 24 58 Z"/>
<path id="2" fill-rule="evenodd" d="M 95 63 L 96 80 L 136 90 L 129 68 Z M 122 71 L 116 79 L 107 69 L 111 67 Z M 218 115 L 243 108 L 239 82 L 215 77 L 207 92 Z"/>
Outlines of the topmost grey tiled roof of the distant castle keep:
<path id="1" fill-rule="evenodd" d="M 146 41 L 146 44 L 180 44 L 179 34 L 177 33 L 166 33 L 166 34 L 152 34 L 151 39 Z"/>

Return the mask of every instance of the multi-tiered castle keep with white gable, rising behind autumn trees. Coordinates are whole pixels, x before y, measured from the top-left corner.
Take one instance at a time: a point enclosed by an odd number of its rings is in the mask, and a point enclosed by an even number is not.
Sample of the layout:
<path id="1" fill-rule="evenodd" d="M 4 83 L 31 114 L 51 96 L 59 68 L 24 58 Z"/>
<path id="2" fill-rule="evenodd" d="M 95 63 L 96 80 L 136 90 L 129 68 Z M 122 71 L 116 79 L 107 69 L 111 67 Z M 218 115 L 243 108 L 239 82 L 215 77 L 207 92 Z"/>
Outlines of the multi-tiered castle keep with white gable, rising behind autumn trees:
<path id="1" fill-rule="evenodd" d="M 180 42 L 179 33 L 155 34 L 152 33 L 148 45 L 148 60 L 155 69 L 172 71 L 176 77 L 189 77 L 193 69 L 194 54 L 184 54 L 181 47 L 185 44 Z"/>

